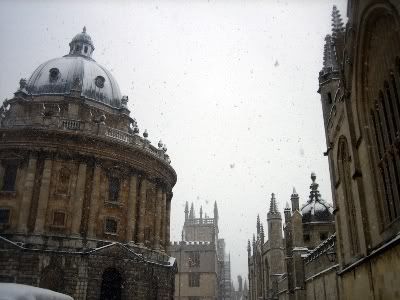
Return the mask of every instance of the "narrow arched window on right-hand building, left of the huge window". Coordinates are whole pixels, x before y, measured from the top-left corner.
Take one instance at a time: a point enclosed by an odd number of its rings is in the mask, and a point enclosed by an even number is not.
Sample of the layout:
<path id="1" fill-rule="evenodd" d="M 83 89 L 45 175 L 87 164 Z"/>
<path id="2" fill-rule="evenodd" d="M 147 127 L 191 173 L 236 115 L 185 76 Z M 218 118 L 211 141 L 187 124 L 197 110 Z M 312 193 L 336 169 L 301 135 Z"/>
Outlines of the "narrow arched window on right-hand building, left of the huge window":
<path id="1" fill-rule="evenodd" d="M 343 190 L 344 209 L 346 211 L 345 219 L 347 220 L 348 235 L 350 241 L 351 255 L 354 256 L 359 253 L 360 246 L 358 241 L 356 220 L 356 209 L 354 206 L 353 192 L 352 192 L 352 178 L 351 178 L 351 164 L 350 153 L 345 137 L 339 139 L 338 151 L 338 169 L 339 178 Z"/>

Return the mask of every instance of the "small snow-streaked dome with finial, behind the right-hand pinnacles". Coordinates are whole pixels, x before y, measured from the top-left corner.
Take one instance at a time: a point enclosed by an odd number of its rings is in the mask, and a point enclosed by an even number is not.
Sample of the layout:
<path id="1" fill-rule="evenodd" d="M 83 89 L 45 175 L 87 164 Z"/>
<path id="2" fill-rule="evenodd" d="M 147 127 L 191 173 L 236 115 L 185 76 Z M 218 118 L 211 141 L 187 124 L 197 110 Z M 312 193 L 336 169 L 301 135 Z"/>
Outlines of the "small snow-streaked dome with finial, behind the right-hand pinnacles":
<path id="1" fill-rule="evenodd" d="M 315 182 L 316 178 L 317 176 L 315 173 L 311 173 L 311 179 L 313 182 L 310 186 L 310 198 L 307 203 L 301 207 L 303 223 L 333 221 L 332 205 L 321 198 L 321 194 L 318 191 L 319 185 Z"/>

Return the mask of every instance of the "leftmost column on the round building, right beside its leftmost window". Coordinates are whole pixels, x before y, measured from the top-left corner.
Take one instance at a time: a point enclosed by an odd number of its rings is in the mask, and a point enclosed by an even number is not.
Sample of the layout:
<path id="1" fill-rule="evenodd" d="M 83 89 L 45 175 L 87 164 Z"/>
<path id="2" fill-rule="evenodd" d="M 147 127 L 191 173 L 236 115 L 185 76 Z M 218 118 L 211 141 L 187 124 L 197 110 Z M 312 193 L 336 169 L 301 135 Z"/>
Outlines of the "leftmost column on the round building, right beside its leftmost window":
<path id="1" fill-rule="evenodd" d="M 37 158 L 35 155 L 29 157 L 28 167 L 25 175 L 25 182 L 23 187 L 23 194 L 21 199 L 21 204 L 19 206 L 18 215 L 18 232 L 27 233 L 28 232 L 28 219 L 31 210 L 33 185 L 35 183 Z"/>

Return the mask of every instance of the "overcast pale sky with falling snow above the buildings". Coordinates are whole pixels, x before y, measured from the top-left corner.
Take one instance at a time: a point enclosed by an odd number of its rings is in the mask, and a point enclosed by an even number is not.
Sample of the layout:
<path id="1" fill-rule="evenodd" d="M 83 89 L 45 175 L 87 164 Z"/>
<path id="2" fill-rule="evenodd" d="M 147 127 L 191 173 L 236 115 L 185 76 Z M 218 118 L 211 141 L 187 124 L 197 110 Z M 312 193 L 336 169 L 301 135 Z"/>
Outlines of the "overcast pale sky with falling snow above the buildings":
<path id="1" fill-rule="evenodd" d="M 1 1 L 0 99 L 67 54 L 86 25 L 93 58 L 129 96 L 141 132 L 168 146 L 178 174 L 172 240 L 185 201 L 212 215 L 216 200 L 236 280 L 272 192 L 281 210 L 293 186 L 304 203 L 315 171 L 331 201 L 318 72 L 332 5 L 345 16 L 345 2 Z"/>

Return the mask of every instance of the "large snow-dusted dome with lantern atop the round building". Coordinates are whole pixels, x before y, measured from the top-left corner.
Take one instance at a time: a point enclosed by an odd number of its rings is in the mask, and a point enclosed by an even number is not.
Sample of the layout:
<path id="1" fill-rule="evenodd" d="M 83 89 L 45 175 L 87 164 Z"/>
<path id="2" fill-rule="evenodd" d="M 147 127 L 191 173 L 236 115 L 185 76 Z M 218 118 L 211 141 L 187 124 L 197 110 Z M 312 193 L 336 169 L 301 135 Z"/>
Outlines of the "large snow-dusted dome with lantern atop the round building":
<path id="1" fill-rule="evenodd" d="M 83 28 L 69 44 L 64 57 L 41 64 L 29 78 L 25 89 L 29 95 L 69 95 L 79 91 L 81 97 L 119 108 L 121 92 L 111 73 L 91 58 L 93 42 Z"/>

